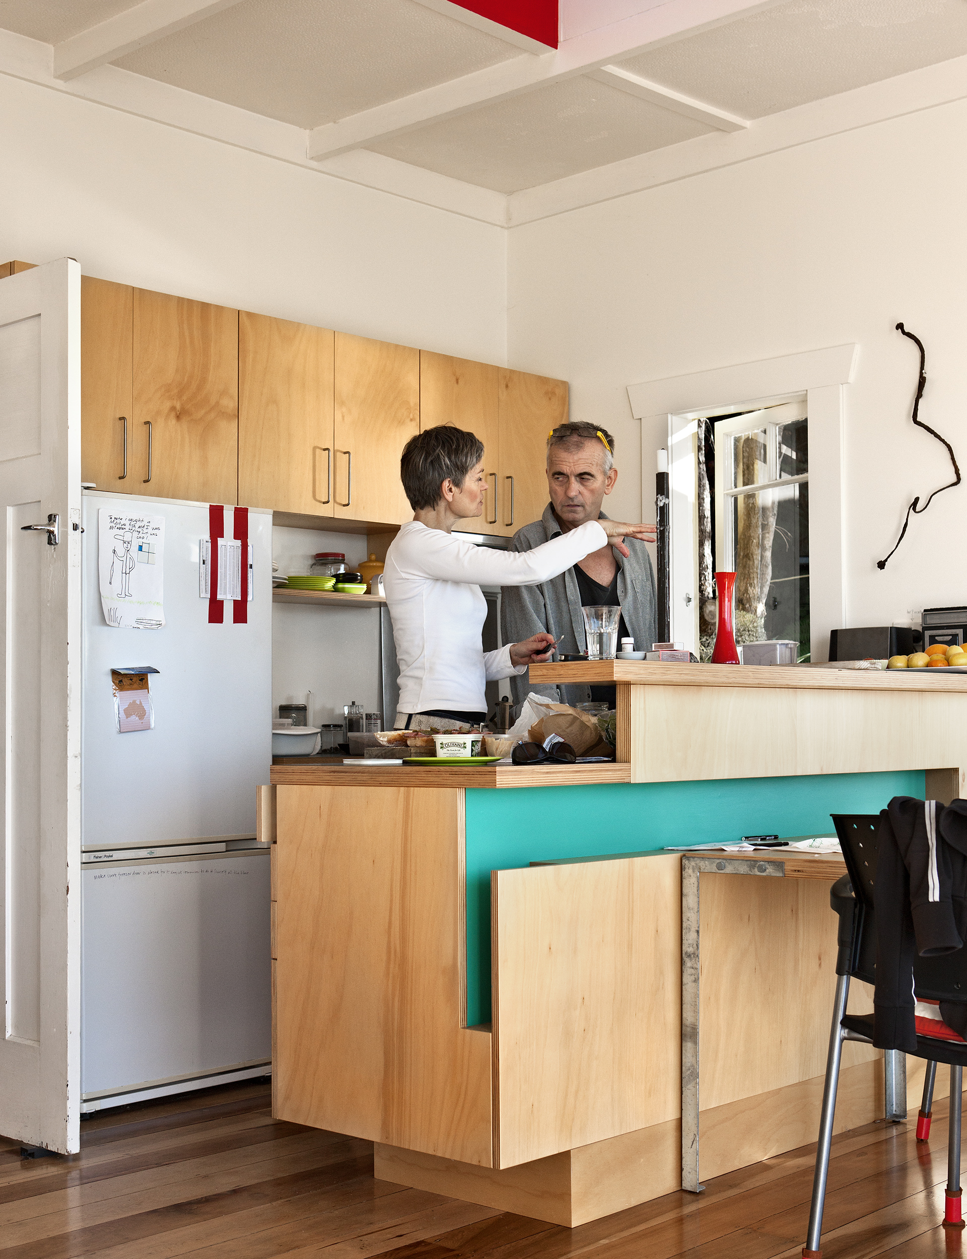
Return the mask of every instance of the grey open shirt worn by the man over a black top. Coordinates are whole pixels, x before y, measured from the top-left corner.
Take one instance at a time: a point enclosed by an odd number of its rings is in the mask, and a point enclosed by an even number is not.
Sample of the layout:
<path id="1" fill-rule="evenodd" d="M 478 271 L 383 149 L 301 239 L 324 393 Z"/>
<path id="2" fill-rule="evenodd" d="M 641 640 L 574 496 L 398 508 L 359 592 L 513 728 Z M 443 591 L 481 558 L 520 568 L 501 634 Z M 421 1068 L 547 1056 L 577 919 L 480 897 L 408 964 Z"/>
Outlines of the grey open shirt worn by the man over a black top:
<path id="1" fill-rule="evenodd" d="M 601 512 L 602 520 L 608 520 Z M 550 504 L 544 509 L 540 520 L 519 529 L 510 540 L 510 549 L 517 551 L 534 550 L 541 543 L 550 541 L 562 533 Z M 655 641 L 655 573 L 651 556 L 645 543 L 625 539 L 631 551 L 628 559 L 614 550 L 618 562 L 618 602 L 628 633 L 635 638 L 637 651 L 650 651 Z M 560 640 L 555 651 L 560 655 L 579 655 L 587 648 L 584 636 L 584 617 L 580 614 L 580 592 L 574 569 L 569 568 L 560 577 L 540 585 L 504 585 L 500 598 L 501 641 L 520 642 L 541 630 Z M 515 704 L 523 703 L 528 691 L 538 691 L 562 704 L 582 704 L 591 690 L 585 685 L 574 686 L 531 686 L 529 672 L 511 677 L 510 687 Z"/>

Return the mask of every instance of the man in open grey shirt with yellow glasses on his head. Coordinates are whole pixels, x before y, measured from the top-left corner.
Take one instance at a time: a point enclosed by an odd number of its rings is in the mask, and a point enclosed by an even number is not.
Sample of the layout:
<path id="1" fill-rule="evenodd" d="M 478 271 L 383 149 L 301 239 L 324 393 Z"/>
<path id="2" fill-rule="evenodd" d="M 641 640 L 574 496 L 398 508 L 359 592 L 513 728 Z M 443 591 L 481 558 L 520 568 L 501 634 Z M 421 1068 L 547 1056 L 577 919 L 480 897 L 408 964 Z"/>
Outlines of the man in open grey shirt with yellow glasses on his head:
<path id="1" fill-rule="evenodd" d="M 587 423 L 559 424 L 548 437 L 550 502 L 540 520 L 514 534 L 511 549 L 533 550 L 588 520 L 607 520 L 601 505 L 617 478 L 614 438 L 607 429 Z M 648 651 L 656 624 L 655 574 L 643 543 L 626 539 L 625 545 L 631 553 L 627 559 L 614 546 L 603 546 L 550 582 L 502 587 L 504 642 L 517 642 L 544 630 L 559 640 L 559 655 L 579 655 L 587 650 L 582 607 L 619 604 L 618 638 L 632 637 L 637 651 Z M 512 677 L 510 686 L 515 705 L 531 690 L 563 704 L 588 699 L 603 699 L 612 706 L 614 703 L 613 686 L 531 686 L 528 674 Z"/>

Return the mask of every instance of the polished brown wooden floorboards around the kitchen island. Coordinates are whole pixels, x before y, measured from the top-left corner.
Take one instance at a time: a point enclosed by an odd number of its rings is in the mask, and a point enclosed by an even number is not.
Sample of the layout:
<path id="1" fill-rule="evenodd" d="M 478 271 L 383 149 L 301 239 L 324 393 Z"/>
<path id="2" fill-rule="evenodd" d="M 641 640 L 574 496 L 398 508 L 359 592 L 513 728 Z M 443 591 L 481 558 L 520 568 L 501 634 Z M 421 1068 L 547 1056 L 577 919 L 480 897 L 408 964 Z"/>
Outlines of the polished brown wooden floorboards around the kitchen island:
<path id="1" fill-rule="evenodd" d="M 373 1147 L 281 1123 L 263 1081 L 105 1110 L 81 1152 L 0 1138 L 0 1259 L 798 1259 L 815 1147 L 578 1229 L 373 1178 Z M 834 1142 L 823 1259 L 967 1259 L 941 1228 L 947 1103 Z"/>

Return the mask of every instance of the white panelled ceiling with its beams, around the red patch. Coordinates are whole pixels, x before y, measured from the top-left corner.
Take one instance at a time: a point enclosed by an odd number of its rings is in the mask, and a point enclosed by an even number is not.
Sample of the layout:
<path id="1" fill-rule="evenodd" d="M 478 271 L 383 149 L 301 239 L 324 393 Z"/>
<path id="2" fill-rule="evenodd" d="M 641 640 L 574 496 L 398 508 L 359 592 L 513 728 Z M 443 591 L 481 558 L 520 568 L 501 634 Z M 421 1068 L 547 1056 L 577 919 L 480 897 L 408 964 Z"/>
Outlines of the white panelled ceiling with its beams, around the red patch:
<path id="1" fill-rule="evenodd" d="M 136 47 L 125 24 L 139 13 L 178 20 L 193 4 L 201 9 L 204 0 L 151 0 L 139 10 L 133 0 L 0 0 L 0 37 L 5 29 L 58 44 L 107 23 L 111 55 L 101 60 L 128 72 L 110 72 L 116 78 L 102 87 L 115 107 L 125 108 L 128 93 L 140 112 L 144 99 L 181 89 L 222 102 L 223 120 L 224 107 L 237 107 L 276 120 L 272 127 L 287 125 L 286 152 L 305 154 L 307 142 L 325 162 L 369 150 L 355 155 L 349 178 L 365 183 L 356 172 L 383 162 L 383 171 L 410 172 L 408 189 L 429 171 L 475 185 L 466 190 L 475 196 L 582 172 L 587 185 L 597 178 L 587 172 L 638 155 L 719 144 L 699 140 L 721 135 L 715 111 L 739 118 L 725 118 L 723 131 L 747 120 L 744 133 L 753 135 L 755 120 L 967 55 L 967 0 L 568 0 L 580 33 L 543 58 L 458 20 L 461 10 L 442 0 L 238 0 L 154 38 L 165 25 L 159 21 L 146 40 L 139 37 L 144 47 L 118 53 Z M 602 20 L 607 25 L 596 26 Z M 112 44 L 117 25 L 125 30 Z M 67 87 L 89 96 L 97 89 L 87 55 Z M 613 76 L 591 77 L 606 57 L 646 81 L 631 84 L 637 94 L 618 89 Z M 131 76 L 159 87 L 139 92 Z M 682 106 L 669 92 L 689 99 Z M 176 125 L 193 108 L 181 93 L 170 106 Z M 204 120 L 206 102 L 198 106 Z M 243 115 L 225 123 L 230 142 L 246 126 Z M 314 128 L 321 128 L 319 147 Z"/>

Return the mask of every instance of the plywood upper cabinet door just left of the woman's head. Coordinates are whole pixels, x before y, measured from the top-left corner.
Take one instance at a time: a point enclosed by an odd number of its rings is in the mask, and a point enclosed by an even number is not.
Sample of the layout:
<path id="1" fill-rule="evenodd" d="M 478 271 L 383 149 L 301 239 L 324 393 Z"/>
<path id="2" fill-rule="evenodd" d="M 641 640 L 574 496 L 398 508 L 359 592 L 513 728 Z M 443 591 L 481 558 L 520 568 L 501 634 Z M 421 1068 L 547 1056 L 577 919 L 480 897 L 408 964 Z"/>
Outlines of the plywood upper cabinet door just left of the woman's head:
<path id="1" fill-rule="evenodd" d="M 336 332 L 336 519 L 413 519 L 399 456 L 418 432 L 419 350 Z"/>

